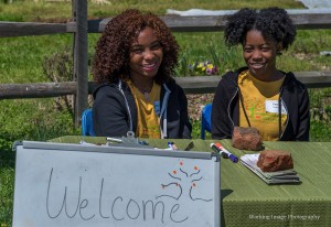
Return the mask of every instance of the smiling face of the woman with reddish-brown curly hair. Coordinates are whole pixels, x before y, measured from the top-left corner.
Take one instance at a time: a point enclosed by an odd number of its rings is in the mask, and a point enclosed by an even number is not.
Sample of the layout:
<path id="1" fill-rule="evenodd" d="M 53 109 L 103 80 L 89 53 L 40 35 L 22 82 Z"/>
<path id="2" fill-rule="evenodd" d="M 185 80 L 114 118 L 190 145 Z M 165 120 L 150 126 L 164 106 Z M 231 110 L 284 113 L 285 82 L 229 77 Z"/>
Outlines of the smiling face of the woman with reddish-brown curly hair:
<path id="1" fill-rule="evenodd" d="M 130 76 L 134 80 L 152 80 L 163 58 L 161 43 L 149 26 L 140 31 L 130 47 Z"/>

